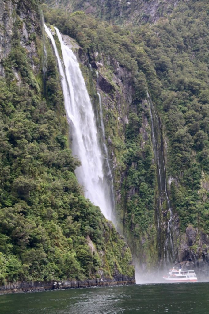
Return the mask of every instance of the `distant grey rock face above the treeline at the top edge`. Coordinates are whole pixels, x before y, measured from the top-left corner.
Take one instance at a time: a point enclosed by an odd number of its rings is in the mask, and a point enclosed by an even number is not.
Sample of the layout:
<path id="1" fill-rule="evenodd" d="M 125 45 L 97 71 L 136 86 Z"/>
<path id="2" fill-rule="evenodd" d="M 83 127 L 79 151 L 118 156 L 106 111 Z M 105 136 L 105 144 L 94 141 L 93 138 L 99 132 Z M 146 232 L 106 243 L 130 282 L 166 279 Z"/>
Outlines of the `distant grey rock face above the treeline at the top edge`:
<path id="1" fill-rule="evenodd" d="M 45 3 L 53 8 L 67 8 L 73 11 L 82 10 L 86 14 L 109 20 L 115 24 L 153 23 L 166 14 L 171 14 L 178 0 L 136 1 L 136 0 L 46 0 Z"/>

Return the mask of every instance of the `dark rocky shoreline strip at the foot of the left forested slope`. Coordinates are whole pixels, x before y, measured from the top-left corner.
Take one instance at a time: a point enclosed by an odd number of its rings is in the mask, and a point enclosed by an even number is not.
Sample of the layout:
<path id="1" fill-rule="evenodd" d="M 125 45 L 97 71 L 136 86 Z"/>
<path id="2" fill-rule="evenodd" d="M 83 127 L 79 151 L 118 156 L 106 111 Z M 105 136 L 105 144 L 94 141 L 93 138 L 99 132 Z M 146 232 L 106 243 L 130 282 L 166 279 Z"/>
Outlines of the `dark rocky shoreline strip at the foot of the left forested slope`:
<path id="1" fill-rule="evenodd" d="M 124 285 L 135 284 L 135 278 L 121 275 L 120 278 L 96 278 L 80 280 L 64 280 L 64 281 L 49 281 L 49 282 L 16 282 L 0 286 L 0 295 L 11 293 L 23 293 L 32 291 L 45 291 L 56 289 L 76 289 L 88 288 L 95 286 L 109 286 L 109 285 Z"/>

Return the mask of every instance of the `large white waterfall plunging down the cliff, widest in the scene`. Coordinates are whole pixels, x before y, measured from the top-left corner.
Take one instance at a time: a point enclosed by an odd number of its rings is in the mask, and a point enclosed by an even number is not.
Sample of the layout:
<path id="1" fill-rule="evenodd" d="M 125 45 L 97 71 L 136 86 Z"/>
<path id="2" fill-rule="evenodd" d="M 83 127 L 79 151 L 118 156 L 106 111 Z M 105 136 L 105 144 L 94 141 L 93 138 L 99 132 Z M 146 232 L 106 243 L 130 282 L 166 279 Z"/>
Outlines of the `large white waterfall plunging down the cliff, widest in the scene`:
<path id="1" fill-rule="evenodd" d="M 81 166 L 76 169 L 76 176 L 84 187 L 86 198 L 99 206 L 107 219 L 111 219 L 112 201 L 103 169 L 104 157 L 99 145 L 94 111 L 79 63 L 72 50 L 62 41 L 59 30 L 55 28 L 62 49 L 62 64 L 54 38 L 46 25 L 45 30 L 51 39 L 61 75 L 67 121 L 72 135 L 72 153 L 81 161 Z"/>

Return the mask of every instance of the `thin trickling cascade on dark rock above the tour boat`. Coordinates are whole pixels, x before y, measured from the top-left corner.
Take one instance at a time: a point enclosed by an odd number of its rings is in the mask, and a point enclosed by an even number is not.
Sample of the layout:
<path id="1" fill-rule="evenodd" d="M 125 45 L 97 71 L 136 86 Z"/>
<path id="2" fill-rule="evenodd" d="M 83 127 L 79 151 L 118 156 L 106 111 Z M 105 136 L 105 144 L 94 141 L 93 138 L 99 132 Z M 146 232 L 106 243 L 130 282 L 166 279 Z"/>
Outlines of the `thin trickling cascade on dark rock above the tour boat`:
<path id="1" fill-rule="evenodd" d="M 173 219 L 173 211 L 172 211 L 172 207 L 171 207 L 170 199 L 168 195 L 168 190 L 167 190 L 165 160 L 164 160 L 164 152 L 163 152 L 163 147 L 162 147 L 163 143 L 161 143 L 161 150 L 160 150 L 158 146 L 158 139 L 156 138 L 155 133 L 154 133 L 153 114 L 155 116 L 156 122 L 158 123 L 158 128 L 159 128 L 158 131 L 160 132 L 159 120 L 158 120 L 158 116 L 156 114 L 155 108 L 153 106 L 152 100 L 148 92 L 147 92 L 147 100 L 148 100 L 148 104 L 150 108 L 152 142 L 153 142 L 155 160 L 157 161 L 158 175 L 159 175 L 159 181 L 160 181 L 160 191 L 165 191 L 168 209 L 170 213 L 170 219 L 168 221 L 168 227 L 167 227 L 167 236 L 166 236 L 166 240 L 164 244 L 164 259 L 165 257 L 167 259 L 167 261 L 165 260 L 165 264 L 166 263 L 169 264 L 170 262 L 172 262 L 172 259 L 174 258 L 174 245 L 173 245 L 172 234 L 171 234 L 171 223 Z M 163 142 L 162 137 L 161 137 L 161 142 Z M 159 154 L 161 154 L 161 158 L 159 158 Z M 158 200 L 158 208 L 159 208 L 159 200 Z M 159 223 L 160 223 L 159 213 L 157 213 L 157 217 L 158 217 L 158 228 L 159 228 Z M 171 249 L 170 257 L 169 257 L 169 242 L 170 242 L 170 249 Z"/>

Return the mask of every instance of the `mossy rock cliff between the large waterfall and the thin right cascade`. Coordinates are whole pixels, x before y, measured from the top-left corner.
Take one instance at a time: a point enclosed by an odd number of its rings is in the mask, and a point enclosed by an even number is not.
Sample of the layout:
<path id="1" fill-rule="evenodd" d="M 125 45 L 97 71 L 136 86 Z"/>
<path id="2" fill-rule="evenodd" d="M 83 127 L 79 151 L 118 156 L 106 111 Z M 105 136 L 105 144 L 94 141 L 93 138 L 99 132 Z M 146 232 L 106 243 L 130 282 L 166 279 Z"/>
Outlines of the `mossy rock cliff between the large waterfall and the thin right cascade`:
<path id="1" fill-rule="evenodd" d="M 146 100 L 134 104 L 135 87 L 130 70 L 122 67 L 115 58 L 100 54 L 97 61 L 96 56 L 96 51 L 90 55 L 91 69 L 89 58 L 83 51 L 80 51 L 79 59 L 83 73 L 86 73 L 96 116 L 99 116 L 97 93 L 101 95 L 109 162 L 114 177 L 114 224 L 125 236 L 135 264 L 149 269 L 158 260 L 155 248 L 155 166 L 148 123 L 149 108 Z M 147 209 L 143 208 L 145 206 Z"/>

